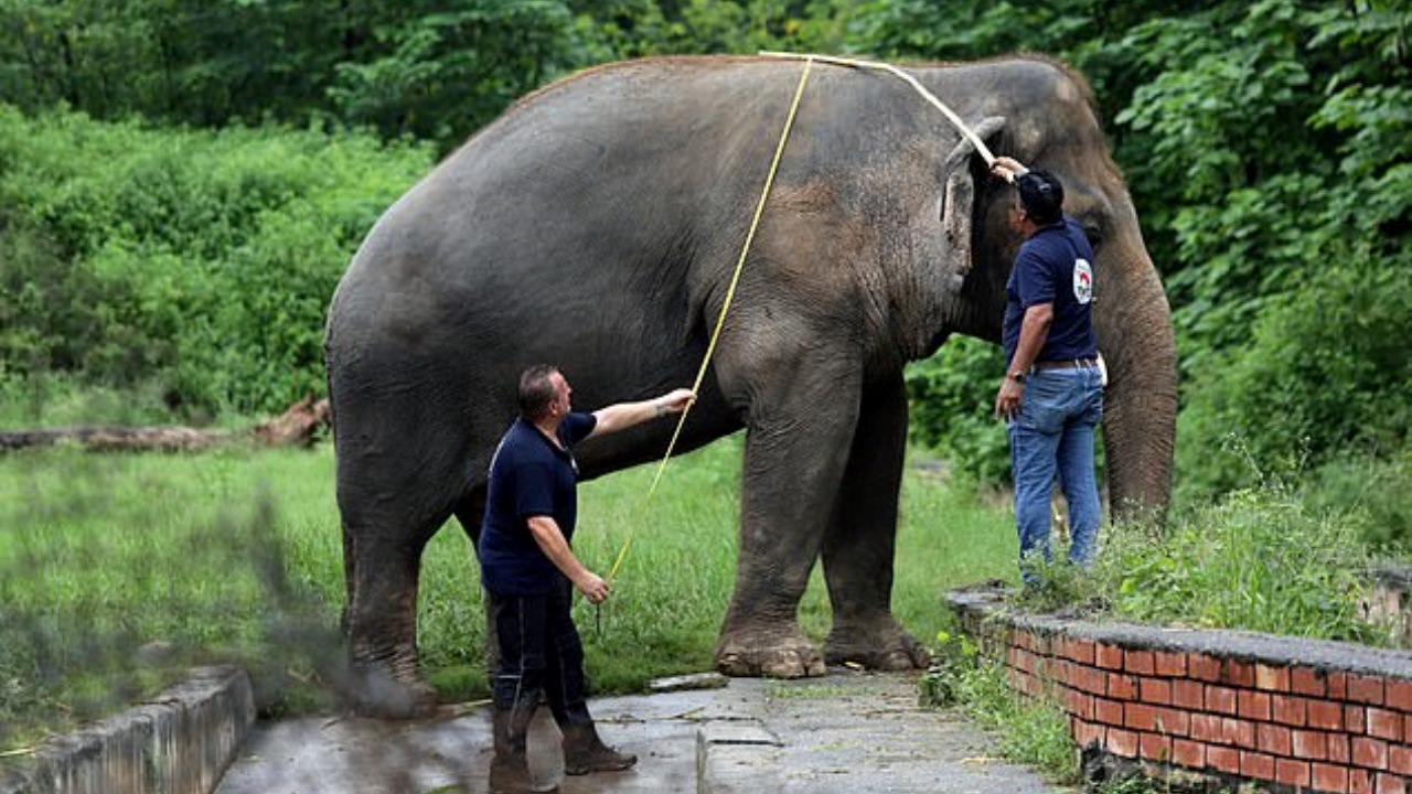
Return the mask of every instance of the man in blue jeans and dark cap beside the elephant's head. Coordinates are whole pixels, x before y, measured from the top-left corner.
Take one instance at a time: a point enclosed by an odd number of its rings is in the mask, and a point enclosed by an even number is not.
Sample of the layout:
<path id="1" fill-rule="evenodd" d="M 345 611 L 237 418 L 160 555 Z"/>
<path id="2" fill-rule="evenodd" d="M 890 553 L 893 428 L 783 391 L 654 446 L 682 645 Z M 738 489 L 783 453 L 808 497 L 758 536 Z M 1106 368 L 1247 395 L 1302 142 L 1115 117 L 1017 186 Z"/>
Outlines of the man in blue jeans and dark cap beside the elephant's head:
<path id="1" fill-rule="evenodd" d="M 993 172 L 1017 188 L 1011 225 L 1025 236 L 1005 284 L 1003 342 L 1008 367 L 995 396 L 1015 476 L 1019 568 L 1052 559 L 1049 494 L 1058 475 L 1069 503 L 1069 561 L 1087 567 L 1099 535 L 1093 438 L 1103 418 L 1103 374 L 1093 336 L 1093 247 L 1063 213 L 1063 185 L 1008 157 Z"/>

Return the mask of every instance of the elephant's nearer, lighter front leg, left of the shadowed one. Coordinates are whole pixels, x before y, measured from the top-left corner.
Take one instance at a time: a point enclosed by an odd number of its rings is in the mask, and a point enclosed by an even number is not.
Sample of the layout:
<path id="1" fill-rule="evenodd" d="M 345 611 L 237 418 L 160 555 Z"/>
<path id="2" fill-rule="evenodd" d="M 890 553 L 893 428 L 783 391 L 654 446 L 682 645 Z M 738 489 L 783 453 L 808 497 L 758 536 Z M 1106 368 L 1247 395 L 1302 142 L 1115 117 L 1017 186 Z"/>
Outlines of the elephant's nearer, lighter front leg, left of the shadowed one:
<path id="1" fill-rule="evenodd" d="M 736 591 L 716 646 L 727 675 L 825 672 L 798 609 L 843 479 L 858 390 L 847 374 L 798 372 L 751 407 Z"/>

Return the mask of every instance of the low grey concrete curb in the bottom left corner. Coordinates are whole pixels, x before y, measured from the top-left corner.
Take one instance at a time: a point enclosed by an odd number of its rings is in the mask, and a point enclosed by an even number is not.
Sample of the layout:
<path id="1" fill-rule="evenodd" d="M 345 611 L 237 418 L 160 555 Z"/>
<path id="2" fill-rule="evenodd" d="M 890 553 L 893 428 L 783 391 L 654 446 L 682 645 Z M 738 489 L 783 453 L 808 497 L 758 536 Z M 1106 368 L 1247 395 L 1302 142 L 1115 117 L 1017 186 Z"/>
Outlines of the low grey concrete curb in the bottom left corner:
<path id="1" fill-rule="evenodd" d="M 51 739 L 0 794 L 209 794 L 256 722 L 250 675 L 201 667 L 151 702 Z"/>

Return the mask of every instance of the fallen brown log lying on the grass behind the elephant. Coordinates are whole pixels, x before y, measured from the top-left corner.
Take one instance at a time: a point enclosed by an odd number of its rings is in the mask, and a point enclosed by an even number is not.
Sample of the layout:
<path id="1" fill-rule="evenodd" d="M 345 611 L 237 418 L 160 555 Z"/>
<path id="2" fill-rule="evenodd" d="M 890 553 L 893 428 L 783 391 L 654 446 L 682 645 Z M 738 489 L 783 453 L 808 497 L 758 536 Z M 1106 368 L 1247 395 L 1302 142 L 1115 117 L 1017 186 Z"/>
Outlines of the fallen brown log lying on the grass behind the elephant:
<path id="1" fill-rule="evenodd" d="M 0 431 L 0 451 L 78 444 L 95 452 L 196 452 L 219 444 L 251 441 L 257 446 L 312 446 L 321 428 L 329 425 L 329 401 L 308 396 L 280 417 L 239 429 L 196 429 L 189 427 L 65 427 Z"/>

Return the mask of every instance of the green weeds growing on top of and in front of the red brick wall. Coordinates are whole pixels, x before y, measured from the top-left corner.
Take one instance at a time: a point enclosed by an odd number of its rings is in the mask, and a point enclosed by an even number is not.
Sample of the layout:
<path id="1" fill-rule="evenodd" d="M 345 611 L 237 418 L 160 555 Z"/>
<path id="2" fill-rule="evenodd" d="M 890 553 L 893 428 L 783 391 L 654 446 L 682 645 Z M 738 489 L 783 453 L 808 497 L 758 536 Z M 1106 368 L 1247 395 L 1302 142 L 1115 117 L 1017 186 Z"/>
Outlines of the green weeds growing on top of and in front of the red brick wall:
<path id="1" fill-rule="evenodd" d="M 1372 559 L 1367 513 L 1312 507 L 1278 478 L 1202 504 L 1159 528 L 1151 520 L 1104 531 L 1091 571 L 1063 561 L 1036 567 L 1041 583 L 1014 599 L 1032 613 L 1240 629 L 1385 646 L 1392 627 L 1360 615 Z M 1062 544 L 1059 544 L 1062 545 Z M 1015 694 L 998 660 L 962 633 L 942 630 L 923 702 L 956 706 L 994 729 L 1001 753 L 1062 783 L 1080 777 L 1065 712 Z M 1169 781 L 1128 776 L 1097 794 L 1165 794 Z"/>

